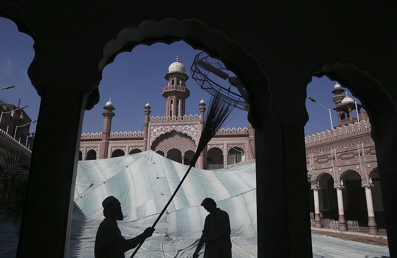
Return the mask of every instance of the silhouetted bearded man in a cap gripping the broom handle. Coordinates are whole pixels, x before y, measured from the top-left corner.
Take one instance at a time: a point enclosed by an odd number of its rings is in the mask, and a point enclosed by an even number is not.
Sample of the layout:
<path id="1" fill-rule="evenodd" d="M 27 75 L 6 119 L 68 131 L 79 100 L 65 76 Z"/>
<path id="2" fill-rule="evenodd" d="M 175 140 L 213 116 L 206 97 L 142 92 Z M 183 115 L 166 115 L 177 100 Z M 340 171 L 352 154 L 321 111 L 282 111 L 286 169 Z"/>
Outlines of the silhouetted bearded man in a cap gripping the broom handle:
<path id="1" fill-rule="evenodd" d="M 121 235 L 116 221 L 124 217 L 119 200 L 109 196 L 102 202 L 102 206 L 105 219 L 96 233 L 95 258 L 124 258 L 125 252 L 152 236 L 154 228 L 148 227 L 142 234 L 126 240 Z"/>

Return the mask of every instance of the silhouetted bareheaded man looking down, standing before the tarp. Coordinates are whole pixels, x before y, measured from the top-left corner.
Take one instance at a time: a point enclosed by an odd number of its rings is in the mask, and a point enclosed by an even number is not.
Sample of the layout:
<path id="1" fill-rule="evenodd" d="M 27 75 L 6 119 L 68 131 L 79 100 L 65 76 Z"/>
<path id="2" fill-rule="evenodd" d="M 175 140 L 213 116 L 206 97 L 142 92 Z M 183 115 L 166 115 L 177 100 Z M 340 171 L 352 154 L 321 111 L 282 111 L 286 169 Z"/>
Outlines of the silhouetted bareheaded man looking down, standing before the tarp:
<path id="1" fill-rule="evenodd" d="M 230 220 L 226 211 L 216 207 L 211 198 L 202 201 L 209 214 L 205 217 L 204 230 L 193 258 L 199 257 L 199 252 L 205 244 L 204 258 L 231 258 L 232 242 L 230 240 Z"/>

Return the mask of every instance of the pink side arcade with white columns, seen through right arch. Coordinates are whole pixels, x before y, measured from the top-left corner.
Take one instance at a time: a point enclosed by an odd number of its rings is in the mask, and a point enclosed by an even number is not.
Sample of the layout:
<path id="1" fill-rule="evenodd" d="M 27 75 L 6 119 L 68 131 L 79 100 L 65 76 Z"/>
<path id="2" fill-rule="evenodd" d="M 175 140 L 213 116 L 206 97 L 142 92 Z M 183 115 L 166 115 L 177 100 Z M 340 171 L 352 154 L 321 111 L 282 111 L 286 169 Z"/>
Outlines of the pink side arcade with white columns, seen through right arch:
<path id="1" fill-rule="evenodd" d="M 321 228 L 324 219 L 332 219 L 335 228 L 347 231 L 347 222 L 356 221 L 378 235 L 385 218 L 371 124 L 361 105 L 343 92 L 336 83 L 332 100 L 338 125 L 305 137 L 312 225 Z"/>

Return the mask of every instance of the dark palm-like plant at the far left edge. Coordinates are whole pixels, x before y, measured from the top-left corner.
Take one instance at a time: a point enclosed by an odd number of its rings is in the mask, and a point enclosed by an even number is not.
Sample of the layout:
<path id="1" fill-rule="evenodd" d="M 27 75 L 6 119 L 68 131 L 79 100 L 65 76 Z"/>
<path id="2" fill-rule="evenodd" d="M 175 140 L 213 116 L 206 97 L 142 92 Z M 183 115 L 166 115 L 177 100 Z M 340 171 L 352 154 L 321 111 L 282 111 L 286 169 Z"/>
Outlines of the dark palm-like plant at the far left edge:
<path id="1" fill-rule="evenodd" d="M 3 153 L 0 164 L 0 210 L 19 234 L 27 189 L 29 162 L 22 153 Z"/>

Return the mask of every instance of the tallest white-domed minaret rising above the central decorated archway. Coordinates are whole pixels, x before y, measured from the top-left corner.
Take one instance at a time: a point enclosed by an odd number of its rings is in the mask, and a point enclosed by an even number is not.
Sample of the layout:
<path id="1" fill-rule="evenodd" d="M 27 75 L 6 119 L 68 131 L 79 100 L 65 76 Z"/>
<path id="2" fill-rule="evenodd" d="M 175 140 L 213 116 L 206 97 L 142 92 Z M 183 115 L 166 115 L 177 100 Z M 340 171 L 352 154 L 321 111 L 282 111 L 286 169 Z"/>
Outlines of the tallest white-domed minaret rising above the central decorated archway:
<path id="1" fill-rule="evenodd" d="M 162 93 L 166 99 L 165 116 L 170 116 L 171 119 L 173 116 L 185 115 L 185 100 L 190 96 L 185 84 L 189 76 L 185 72 L 185 65 L 179 61 L 177 55 L 177 60 L 168 67 L 168 73 L 164 76 L 168 81 Z"/>

